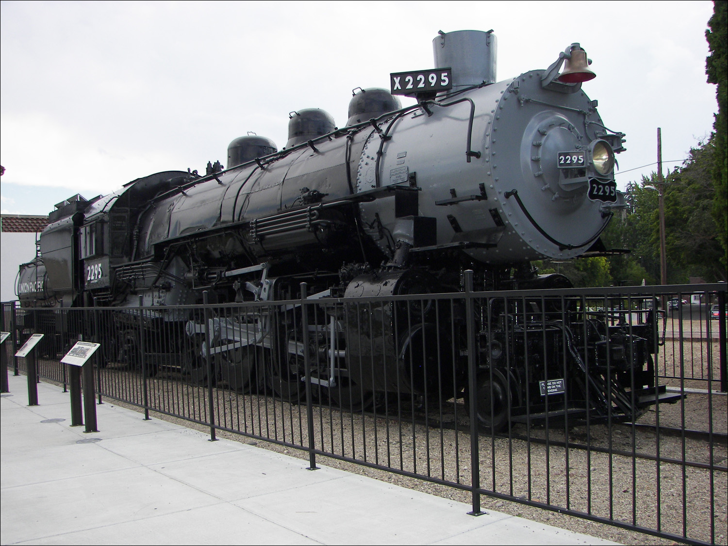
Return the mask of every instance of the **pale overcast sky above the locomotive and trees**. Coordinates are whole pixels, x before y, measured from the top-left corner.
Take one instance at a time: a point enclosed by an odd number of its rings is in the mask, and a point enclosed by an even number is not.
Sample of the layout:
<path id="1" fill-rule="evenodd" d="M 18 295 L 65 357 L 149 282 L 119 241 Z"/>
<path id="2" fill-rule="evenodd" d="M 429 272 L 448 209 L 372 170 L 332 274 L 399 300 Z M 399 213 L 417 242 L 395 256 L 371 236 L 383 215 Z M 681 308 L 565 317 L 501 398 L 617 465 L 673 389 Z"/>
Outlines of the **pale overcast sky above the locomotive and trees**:
<path id="1" fill-rule="evenodd" d="M 665 162 L 710 134 L 712 12 L 711 1 L 2 1 L 0 208 L 44 215 L 76 193 L 204 172 L 248 131 L 280 149 L 290 111 L 323 108 L 342 126 L 353 88 L 433 68 L 439 30 L 491 28 L 498 80 L 582 44 L 597 74 L 583 89 L 627 134 L 623 188 L 656 169 L 636 167 L 657 160 L 657 127 Z"/>

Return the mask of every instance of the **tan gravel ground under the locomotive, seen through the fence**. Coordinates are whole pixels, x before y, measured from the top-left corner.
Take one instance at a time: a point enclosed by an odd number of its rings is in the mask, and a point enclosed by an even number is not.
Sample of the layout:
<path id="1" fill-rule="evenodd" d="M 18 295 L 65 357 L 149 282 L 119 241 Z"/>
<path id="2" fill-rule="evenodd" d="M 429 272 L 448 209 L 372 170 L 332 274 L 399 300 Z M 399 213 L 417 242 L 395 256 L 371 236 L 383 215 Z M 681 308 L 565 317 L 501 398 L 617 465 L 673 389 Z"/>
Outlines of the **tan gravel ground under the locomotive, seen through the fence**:
<path id="1" fill-rule="evenodd" d="M 165 378 L 165 375 L 167 378 Z M 136 393 L 140 399 L 138 374 L 107 368 L 106 384 L 114 384 L 119 394 Z M 113 378 L 113 379 L 112 379 Z M 207 389 L 192 387 L 174 381 L 175 374 L 160 373 L 149 384 L 149 398 L 157 408 L 170 413 L 183 411 L 191 419 L 205 421 L 208 415 Z M 278 441 L 308 446 L 306 406 L 271 400 L 270 397 L 237 395 L 224 389 L 213 389 L 216 422 L 221 426 L 261 435 Z M 119 395 L 117 394 L 117 395 Z M 705 430 L 708 427 L 708 395 L 691 393 L 684 403 L 662 404 L 659 412 L 654 408 L 639 419 L 639 423 L 654 423 L 659 416 L 661 425 Z M 727 428 L 727 397 L 713 395 L 713 427 L 721 432 Z M 138 401 L 141 401 L 138 400 Z M 184 408 L 184 409 L 183 409 Z M 314 446 L 328 453 L 346 456 L 371 464 L 381 464 L 402 472 L 418 472 L 435 480 L 452 483 L 470 483 L 470 435 L 467 432 L 467 411 L 462 400 L 451 400 L 443 414 L 438 411 L 416 411 L 403 408 L 402 419 L 396 410 L 390 414 L 351 414 L 314 406 Z M 160 419 L 173 417 L 156 414 Z M 424 420 L 430 419 L 430 426 Z M 209 427 L 189 421 L 186 426 L 208 431 Z M 443 422 L 448 427 L 439 427 Z M 457 430 L 455 430 L 457 429 Z M 280 446 L 232 432 L 218 431 L 218 435 L 232 440 L 255 443 L 257 446 L 308 459 L 305 451 Z M 715 502 L 715 542 L 726 544 L 728 480 L 726 472 L 711 475 L 703 468 L 687 467 L 665 459 L 708 463 L 711 456 L 716 465 L 725 466 L 727 449 L 724 443 L 706 445 L 701 440 L 661 435 L 652 431 L 632 430 L 628 425 L 614 424 L 577 426 L 569 430 L 571 443 L 590 443 L 591 451 L 563 448 L 565 432 L 562 427 L 545 430 L 542 426 L 513 427 L 512 435 L 523 435 L 532 441 L 516 438 L 492 438 L 481 435 L 480 484 L 499 494 L 512 495 L 533 502 L 543 502 L 571 510 L 615 520 L 635 521 L 637 525 L 660 528 L 663 531 L 705 540 L 711 540 L 710 499 Z M 545 440 L 548 448 L 534 440 Z M 596 451 L 609 449 L 612 455 Z M 614 451 L 636 452 L 657 460 L 622 456 Z M 400 486 L 444 496 L 461 502 L 470 502 L 467 491 L 424 480 L 398 475 L 385 470 L 364 467 L 331 457 L 317 456 L 318 464 L 341 468 L 362 475 L 396 483 Z M 712 493 L 711 493 L 712 487 Z M 660 514 L 657 514 L 657 499 Z M 687 502 L 683 502 L 687 499 Z M 549 523 L 572 531 L 592 534 L 625 544 L 672 544 L 646 534 L 626 531 L 602 523 L 593 523 L 537 507 L 529 507 L 502 499 L 482 496 L 483 510 L 498 510 L 513 515 Z M 657 518 L 660 518 L 658 522 Z"/>

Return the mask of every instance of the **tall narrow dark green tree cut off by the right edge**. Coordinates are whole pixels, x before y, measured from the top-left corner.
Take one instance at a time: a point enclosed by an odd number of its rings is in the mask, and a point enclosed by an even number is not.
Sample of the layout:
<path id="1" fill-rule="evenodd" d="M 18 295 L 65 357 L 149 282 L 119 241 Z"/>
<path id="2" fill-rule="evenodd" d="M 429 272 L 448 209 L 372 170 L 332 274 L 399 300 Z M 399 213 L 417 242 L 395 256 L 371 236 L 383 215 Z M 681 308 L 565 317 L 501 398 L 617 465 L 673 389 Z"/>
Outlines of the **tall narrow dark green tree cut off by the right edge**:
<path id="1" fill-rule="evenodd" d="M 705 59 L 705 73 L 708 74 L 708 83 L 718 86 L 718 114 L 713 123 L 716 154 L 712 170 L 715 181 L 712 213 L 723 248 L 721 262 L 728 267 L 728 2 L 725 0 L 713 1 L 713 17 L 708 21 L 705 39 L 711 50 L 711 55 Z"/>

